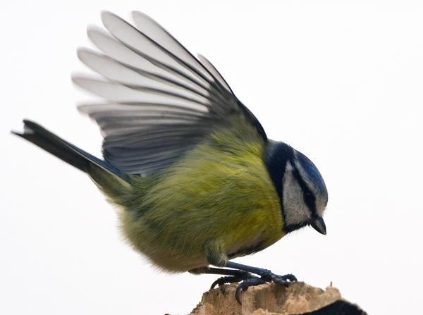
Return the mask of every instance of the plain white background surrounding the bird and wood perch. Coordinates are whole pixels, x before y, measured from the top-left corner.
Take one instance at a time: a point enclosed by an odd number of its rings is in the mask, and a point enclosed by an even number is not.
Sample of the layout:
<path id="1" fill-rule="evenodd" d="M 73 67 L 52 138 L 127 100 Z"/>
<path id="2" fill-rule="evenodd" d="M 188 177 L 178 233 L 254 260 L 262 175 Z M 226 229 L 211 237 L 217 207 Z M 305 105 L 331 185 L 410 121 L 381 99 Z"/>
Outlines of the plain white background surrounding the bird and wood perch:
<path id="1" fill-rule="evenodd" d="M 85 174 L 9 134 L 31 118 L 100 155 L 70 75 L 85 69 L 75 48 L 90 45 L 85 27 L 102 9 L 144 11 L 207 56 L 269 137 L 324 175 L 328 235 L 305 228 L 237 261 L 321 288 L 332 281 L 369 314 L 418 313 L 419 1 L 59 2 L 1 5 L 1 314 L 187 314 L 214 280 L 148 266 Z"/>

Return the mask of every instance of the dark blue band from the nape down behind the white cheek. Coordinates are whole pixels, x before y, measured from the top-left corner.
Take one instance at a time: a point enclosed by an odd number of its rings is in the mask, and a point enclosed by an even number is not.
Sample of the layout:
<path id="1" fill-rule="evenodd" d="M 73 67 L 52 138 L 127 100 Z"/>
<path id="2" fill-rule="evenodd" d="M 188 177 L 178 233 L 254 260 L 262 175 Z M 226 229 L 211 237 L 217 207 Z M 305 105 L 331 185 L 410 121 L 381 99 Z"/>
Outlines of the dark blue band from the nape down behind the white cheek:
<path id="1" fill-rule="evenodd" d="M 283 211 L 283 175 L 285 175 L 286 163 L 292 160 L 293 157 L 293 148 L 288 144 L 283 142 L 269 142 L 267 144 L 264 163 L 266 163 L 267 171 L 269 171 L 271 181 L 274 183 L 278 193 L 284 222 L 286 222 L 286 216 Z"/>

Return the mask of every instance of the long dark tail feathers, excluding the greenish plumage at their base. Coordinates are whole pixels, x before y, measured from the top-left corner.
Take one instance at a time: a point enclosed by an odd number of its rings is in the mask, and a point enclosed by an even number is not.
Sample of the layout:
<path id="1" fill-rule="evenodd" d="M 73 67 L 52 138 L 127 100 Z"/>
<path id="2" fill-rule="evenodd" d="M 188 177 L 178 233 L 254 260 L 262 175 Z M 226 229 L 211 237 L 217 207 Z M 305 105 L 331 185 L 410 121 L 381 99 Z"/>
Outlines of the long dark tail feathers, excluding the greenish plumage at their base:
<path id="1" fill-rule="evenodd" d="M 18 135 L 19 137 L 23 137 L 33 144 L 36 144 L 38 147 L 41 147 L 47 152 L 57 156 L 59 159 L 75 166 L 75 168 L 78 168 L 85 173 L 89 173 L 92 168 L 92 164 L 94 164 L 95 166 L 118 176 L 122 180 L 125 180 L 125 182 L 129 182 L 128 175 L 122 173 L 118 170 L 118 168 L 110 165 L 106 161 L 75 147 L 75 145 L 61 139 L 61 137 L 54 135 L 54 133 L 49 132 L 49 130 L 43 128 L 37 123 L 34 123 L 33 121 L 24 120 L 23 123 L 23 133 L 15 131 L 12 131 L 12 133 Z"/>

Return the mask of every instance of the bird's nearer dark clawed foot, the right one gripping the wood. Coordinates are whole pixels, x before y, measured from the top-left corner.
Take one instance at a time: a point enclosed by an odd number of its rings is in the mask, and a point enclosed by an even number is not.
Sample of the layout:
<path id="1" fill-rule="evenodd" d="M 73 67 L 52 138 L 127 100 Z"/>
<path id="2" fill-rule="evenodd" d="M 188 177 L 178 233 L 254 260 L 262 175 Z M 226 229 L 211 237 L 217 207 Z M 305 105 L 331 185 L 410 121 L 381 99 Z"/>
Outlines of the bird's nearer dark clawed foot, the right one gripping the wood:
<path id="1" fill-rule="evenodd" d="M 290 283 L 297 281 L 297 278 L 295 278 L 295 276 L 292 274 L 279 276 L 266 269 L 260 269 L 257 274 L 260 276 L 260 278 L 250 275 L 250 278 L 243 280 L 236 288 L 235 299 L 239 304 L 242 304 L 240 299 L 241 290 L 246 291 L 248 288 L 254 287 L 255 285 L 271 283 L 272 281 L 278 285 L 283 285 L 284 287 L 287 287 Z"/>

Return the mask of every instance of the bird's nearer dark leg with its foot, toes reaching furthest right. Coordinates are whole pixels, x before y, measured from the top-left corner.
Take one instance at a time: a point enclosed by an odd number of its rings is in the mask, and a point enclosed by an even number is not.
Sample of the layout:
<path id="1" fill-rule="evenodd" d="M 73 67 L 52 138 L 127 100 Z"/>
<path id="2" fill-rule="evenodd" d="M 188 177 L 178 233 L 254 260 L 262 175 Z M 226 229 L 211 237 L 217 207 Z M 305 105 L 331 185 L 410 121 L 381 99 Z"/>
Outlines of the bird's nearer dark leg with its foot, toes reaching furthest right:
<path id="1" fill-rule="evenodd" d="M 233 261 L 227 261 L 225 266 L 228 268 L 233 268 L 236 271 L 246 271 L 247 273 L 255 273 L 257 276 L 260 276 L 260 278 L 257 278 L 254 276 L 252 276 L 251 278 L 247 278 L 238 285 L 238 288 L 236 288 L 236 291 L 235 291 L 235 298 L 240 304 L 241 304 L 241 300 L 240 300 L 241 290 L 245 291 L 249 287 L 252 287 L 254 285 L 262 285 L 266 282 L 271 282 L 271 281 L 273 281 L 274 283 L 277 283 L 278 285 L 283 285 L 283 286 L 287 286 L 289 283 L 297 281 L 297 278 L 295 278 L 295 276 L 292 274 L 279 276 L 279 275 L 276 275 L 275 273 L 272 273 L 270 270 L 267 270 L 267 269 L 238 264 Z"/>

